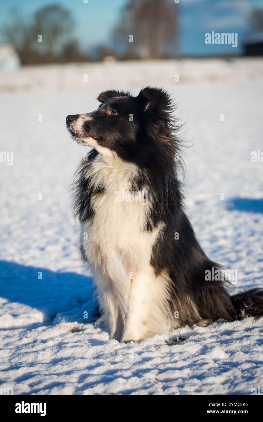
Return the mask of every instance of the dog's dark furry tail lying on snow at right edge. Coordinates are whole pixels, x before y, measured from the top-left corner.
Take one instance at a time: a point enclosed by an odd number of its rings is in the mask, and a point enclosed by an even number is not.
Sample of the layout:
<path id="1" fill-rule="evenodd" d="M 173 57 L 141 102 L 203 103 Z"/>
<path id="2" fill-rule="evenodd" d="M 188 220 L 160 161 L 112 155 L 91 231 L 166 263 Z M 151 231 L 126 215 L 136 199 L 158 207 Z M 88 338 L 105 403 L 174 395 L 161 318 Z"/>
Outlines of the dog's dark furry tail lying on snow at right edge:
<path id="1" fill-rule="evenodd" d="M 263 317 L 263 289 L 255 287 L 230 297 L 237 319 Z"/>

